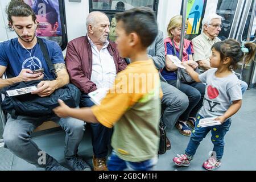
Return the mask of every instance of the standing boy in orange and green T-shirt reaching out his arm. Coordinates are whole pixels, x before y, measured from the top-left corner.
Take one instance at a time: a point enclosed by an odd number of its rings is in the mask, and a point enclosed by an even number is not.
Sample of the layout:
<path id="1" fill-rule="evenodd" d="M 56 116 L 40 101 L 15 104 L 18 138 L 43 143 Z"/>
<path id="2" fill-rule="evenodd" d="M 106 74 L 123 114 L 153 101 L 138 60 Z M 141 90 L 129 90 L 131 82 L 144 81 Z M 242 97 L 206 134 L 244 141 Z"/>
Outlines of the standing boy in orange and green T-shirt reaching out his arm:
<path id="1" fill-rule="evenodd" d="M 59 101 L 60 106 L 54 111 L 62 118 L 114 126 L 110 171 L 127 167 L 149 171 L 158 161 L 162 90 L 158 71 L 147 56 L 147 47 L 156 38 L 158 25 L 154 11 L 147 7 L 118 13 L 115 18 L 118 51 L 121 57 L 129 57 L 131 64 L 118 73 L 101 105 L 71 109 Z"/>

